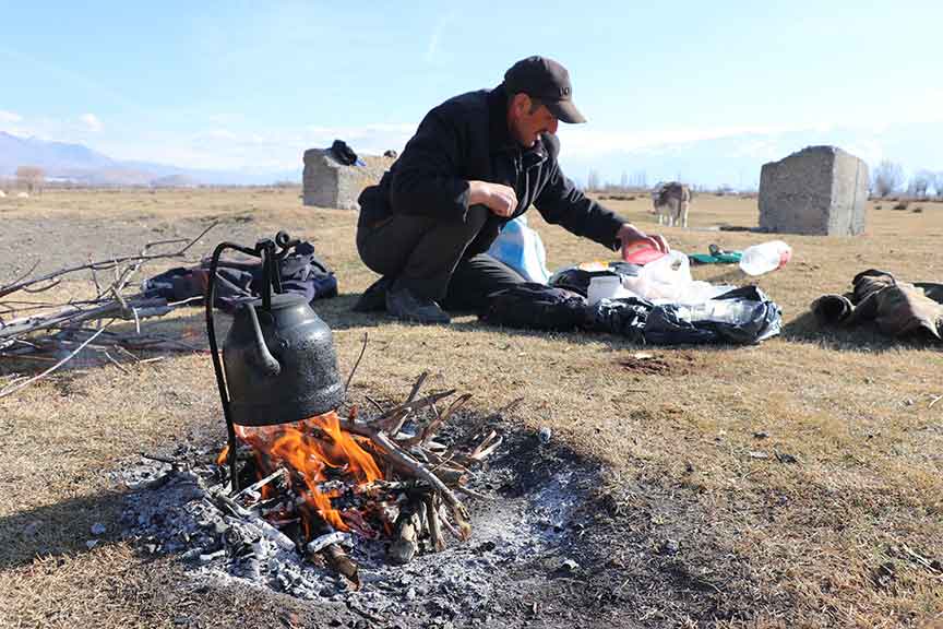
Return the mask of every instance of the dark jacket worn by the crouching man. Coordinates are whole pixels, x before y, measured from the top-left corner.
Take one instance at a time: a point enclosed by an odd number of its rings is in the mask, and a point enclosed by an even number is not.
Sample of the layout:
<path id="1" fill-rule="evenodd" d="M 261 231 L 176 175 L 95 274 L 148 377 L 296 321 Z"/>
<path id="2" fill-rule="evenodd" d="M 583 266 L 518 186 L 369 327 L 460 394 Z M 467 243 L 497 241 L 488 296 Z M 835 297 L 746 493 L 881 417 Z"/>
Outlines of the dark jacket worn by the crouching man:
<path id="1" fill-rule="evenodd" d="M 559 224 L 613 250 L 624 221 L 587 199 L 560 170 L 560 141 L 544 133 L 523 149 L 508 130 L 508 93 L 469 92 L 450 98 L 426 115 L 403 154 L 378 186 L 360 195 L 361 221 L 381 223 L 393 214 L 441 216 L 463 221 L 468 211 L 468 181 L 503 183 L 517 194 L 513 216 L 533 203 L 548 223 Z M 511 218 L 489 218 L 465 251 L 488 250 Z"/>

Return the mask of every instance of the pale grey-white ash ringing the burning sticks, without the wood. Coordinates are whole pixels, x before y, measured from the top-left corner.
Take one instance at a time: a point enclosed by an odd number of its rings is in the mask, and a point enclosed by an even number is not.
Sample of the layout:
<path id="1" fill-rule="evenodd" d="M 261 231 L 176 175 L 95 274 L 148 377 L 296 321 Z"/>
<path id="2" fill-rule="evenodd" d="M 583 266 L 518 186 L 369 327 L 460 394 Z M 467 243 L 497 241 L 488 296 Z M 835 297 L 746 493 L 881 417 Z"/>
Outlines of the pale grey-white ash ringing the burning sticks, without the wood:
<path id="1" fill-rule="evenodd" d="M 535 448 L 540 442 L 532 441 Z M 199 454 L 205 460 L 208 452 Z M 443 551 L 421 551 L 406 566 L 393 566 L 386 543 L 354 536 L 348 553 L 359 566 L 359 591 L 330 568 L 279 548 L 255 525 L 224 514 L 198 482 L 219 482 L 213 464 L 187 470 L 142 459 L 116 476 L 138 489 L 127 500 L 124 535 L 144 553 L 179 556 L 194 578 L 238 579 L 303 600 L 346 602 L 375 616 L 421 615 L 444 624 L 500 614 L 502 594 L 520 579 L 511 575 L 514 568 L 558 554 L 564 538 L 583 526 L 573 520 L 574 510 L 598 479 L 595 472 L 562 467 L 522 480 L 512 466 L 520 455 L 499 451 L 473 479 L 470 488 L 493 499 L 469 503 L 472 537 L 465 543 L 450 538 Z M 522 485 L 527 488 L 518 496 L 494 490 Z"/>

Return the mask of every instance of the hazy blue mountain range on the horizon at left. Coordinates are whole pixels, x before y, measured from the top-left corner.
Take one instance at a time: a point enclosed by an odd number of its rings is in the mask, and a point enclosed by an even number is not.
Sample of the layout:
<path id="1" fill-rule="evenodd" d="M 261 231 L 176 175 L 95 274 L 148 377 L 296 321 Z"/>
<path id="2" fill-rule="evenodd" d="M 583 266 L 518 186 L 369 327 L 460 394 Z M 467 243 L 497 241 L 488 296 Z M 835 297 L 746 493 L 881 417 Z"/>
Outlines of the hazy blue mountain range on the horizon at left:
<path id="1" fill-rule="evenodd" d="M 284 173 L 241 173 L 181 168 L 150 162 L 122 162 L 83 144 L 19 138 L 0 131 L 0 177 L 12 177 L 20 166 L 43 168 L 48 180 L 87 186 L 259 186 L 301 180 L 300 169 Z"/>

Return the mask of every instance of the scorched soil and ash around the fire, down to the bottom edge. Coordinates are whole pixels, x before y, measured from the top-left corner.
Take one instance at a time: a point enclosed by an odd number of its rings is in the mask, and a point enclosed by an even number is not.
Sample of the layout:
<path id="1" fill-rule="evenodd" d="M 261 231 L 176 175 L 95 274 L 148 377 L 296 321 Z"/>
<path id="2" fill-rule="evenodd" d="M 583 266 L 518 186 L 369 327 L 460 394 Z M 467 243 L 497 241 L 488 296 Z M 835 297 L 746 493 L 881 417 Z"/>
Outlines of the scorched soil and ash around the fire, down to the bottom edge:
<path id="1" fill-rule="evenodd" d="M 446 444 L 482 426 L 474 417 L 455 423 L 458 429 L 443 435 Z M 178 574 L 180 592 L 215 601 L 230 589 L 248 589 L 264 608 L 291 592 L 291 605 L 278 612 L 287 626 L 303 626 L 315 613 L 320 626 L 391 628 L 664 627 L 752 617 L 759 593 L 749 561 L 705 536 L 709 525 L 695 496 L 650 480 L 616 489 L 604 465 L 546 431 L 530 434 L 505 419 L 487 429 L 504 434 L 505 442 L 473 480 L 489 498 L 469 502 L 472 539 L 452 541 L 444 551 L 402 567 L 385 561 L 385 543 L 358 539 L 351 557 L 363 586 L 357 592 L 300 556 L 277 562 L 278 579 L 264 570 L 253 577 L 222 537 L 225 555 L 199 559 L 205 539 L 181 517 L 184 505 L 200 501 L 199 491 L 186 475 L 154 461 L 115 473 L 153 487 L 129 495 L 124 535 Z M 170 459 L 205 459 L 218 447 L 186 443 Z M 684 524 L 672 525 L 679 515 Z M 691 523 L 697 524 L 693 531 Z M 180 542 L 184 530 L 189 544 Z M 212 614 L 213 606 L 201 605 L 175 622 L 201 627 Z"/>

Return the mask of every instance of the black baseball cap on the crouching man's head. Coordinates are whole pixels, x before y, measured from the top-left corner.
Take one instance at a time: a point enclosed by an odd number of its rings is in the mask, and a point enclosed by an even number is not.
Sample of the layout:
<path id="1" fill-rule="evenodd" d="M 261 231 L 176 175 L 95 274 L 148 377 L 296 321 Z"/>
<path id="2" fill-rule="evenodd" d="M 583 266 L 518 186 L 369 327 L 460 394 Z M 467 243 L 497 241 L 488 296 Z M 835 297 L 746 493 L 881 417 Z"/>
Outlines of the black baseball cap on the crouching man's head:
<path id="1" fill-rule="evenodd" d="M 570 73 L 552 59 L 536 55 L 522 59 L 504 73 L 504 87 L 510 94 L 523 92 L 539 98 L 563 122 L 586 121 L 573 104 Z"/>

